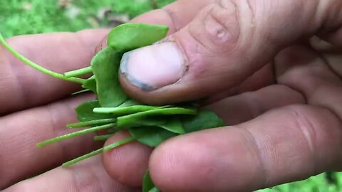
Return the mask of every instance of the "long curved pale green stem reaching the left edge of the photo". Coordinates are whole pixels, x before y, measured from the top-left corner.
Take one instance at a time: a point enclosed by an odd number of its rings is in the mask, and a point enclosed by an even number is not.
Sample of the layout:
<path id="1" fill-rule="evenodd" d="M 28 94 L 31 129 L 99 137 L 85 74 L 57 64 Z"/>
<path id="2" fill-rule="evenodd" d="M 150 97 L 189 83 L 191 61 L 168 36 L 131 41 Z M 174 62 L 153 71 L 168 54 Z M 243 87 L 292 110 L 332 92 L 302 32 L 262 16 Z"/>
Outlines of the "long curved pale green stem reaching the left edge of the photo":
<path id="1" fill-rule="evenodd" d="M 50 75 L 50 76 L 52 76 L 54 78 L 58 78 L 58 79 L 61 79 L 61 80 L 68 80 L 68 81 L 71 81 L 71 82 L 78 82 L 80 84 L 83 84 L 83 82 L 86 82 L 86 80 L 83 80 L 81 78 L 66 78 L 61 73 L 53 72 L 51 70 L 48 70 L 46 68 L 41 67 L 41 65 L 33 63 L 31 60 L 28 60 L 28 58 L 24 57 L 24 55 L 21 55 L 20 53 L 16 52 L 16 50 L 11 48 L 11 46 L 9 46 L 9 44 L 6 43 L 4 37 L 1 35 L 1 33 L 0 33 L 0 43 L 7 50 L 9 50 L 9 52 L 11 52 L 14 56 L 16 56 L 16 58 L 18 58 L 22 62 L 26 63 L 27 65 L 30 65 L 32 68 L 35 68 L 36 70 L 41 71 L 41 73 L 45 73 L 46 75 Z"/>

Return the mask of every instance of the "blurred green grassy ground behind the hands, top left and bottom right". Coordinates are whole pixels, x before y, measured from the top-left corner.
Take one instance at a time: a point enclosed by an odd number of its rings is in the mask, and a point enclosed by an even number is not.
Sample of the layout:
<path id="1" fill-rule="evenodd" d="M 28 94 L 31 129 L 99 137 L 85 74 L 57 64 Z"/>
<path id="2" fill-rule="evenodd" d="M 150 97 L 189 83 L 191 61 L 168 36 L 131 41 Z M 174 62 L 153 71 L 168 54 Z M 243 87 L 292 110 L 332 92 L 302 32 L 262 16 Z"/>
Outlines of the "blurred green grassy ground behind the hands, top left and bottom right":
<path id="1" fill-rule="evenodd" d="M 1 0 L 0 31 L 22 34 L 115 26 L 174 0 Z M 200 1 L 200 0 L 199 0 Z M 342 174 L 320 174 L 259 192 L 338 192 Z"/>

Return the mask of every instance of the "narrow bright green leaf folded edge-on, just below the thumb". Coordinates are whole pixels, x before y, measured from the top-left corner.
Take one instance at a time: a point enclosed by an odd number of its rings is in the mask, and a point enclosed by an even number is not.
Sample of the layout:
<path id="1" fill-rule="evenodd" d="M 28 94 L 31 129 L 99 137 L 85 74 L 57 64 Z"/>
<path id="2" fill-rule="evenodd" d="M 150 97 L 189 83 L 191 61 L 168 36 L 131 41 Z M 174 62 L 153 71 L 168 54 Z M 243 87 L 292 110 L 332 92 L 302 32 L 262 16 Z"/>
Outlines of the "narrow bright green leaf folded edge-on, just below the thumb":
<path id="1" fill-rule="evenodd" d="M 170 107 L 170 108 L 162 108 L 156 110 L 150 110 L 146 112 L 137 112 L 134 114 L 128 114 L 122 117 L 118 117 L 118 127 L 125 126 L 135 126 L 140 125 L 139 122 L 141 120 L 147 120 L 146 117 L 150 116 L 162 116 L 162 115 L 171 115 L 171 114 L 196 114 L 195 110 L 189 110 L 180 107 Z M 154 117 L 155 118 L 155 117 Z M 165 118 L 164 118 L 165 119 Z"/>

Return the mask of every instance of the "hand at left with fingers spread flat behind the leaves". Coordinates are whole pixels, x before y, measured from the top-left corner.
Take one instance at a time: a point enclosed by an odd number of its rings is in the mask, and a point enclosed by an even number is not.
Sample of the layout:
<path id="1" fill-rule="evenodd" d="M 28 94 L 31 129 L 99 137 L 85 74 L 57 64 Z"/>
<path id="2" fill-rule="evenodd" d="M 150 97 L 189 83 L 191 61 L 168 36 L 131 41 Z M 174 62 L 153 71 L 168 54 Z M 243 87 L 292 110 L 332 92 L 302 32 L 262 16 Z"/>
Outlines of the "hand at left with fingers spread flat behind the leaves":
<path id="1" fill-rule="evenodd" d="M 30 60 L 66 72 L 90 63 L 95 47 L 107 33 L 107 30 L 90 30 L 19 36 L 9 39 L 9 43 Z M 69 97 L 79 89 L 79 85 L 51 78 L 19 62 L 0 47 L 0 190 L 41 174 L 4 192 L 139 191 L 110 178 L 99 157 L 68 169 L 58 167 L 103 145 L 91 142 L 91 134 L 42 148 L 36 146 L 38 142 L 71 132 L 65 127 L 76 122 L 73 108 L 93 97 Z"/>

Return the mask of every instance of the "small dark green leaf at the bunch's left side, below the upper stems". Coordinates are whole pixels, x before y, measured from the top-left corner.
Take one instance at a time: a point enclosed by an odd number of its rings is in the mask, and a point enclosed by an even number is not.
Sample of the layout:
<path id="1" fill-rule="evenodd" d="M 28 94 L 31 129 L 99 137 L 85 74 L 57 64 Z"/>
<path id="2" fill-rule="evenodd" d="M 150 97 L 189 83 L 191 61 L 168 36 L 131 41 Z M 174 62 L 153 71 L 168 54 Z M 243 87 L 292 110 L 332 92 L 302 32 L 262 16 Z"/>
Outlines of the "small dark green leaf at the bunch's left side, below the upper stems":
<path id="1" fill-rule="evenodd" d="M 93 110 L 95 107 L 100 107 L 98 100 L 90 100 L 76 107 L 77 118 L 80 122 L 88 122 L 98 119 L 112 119 L 113 114 L 97 114 Z"/>

